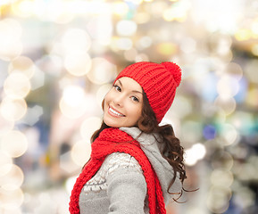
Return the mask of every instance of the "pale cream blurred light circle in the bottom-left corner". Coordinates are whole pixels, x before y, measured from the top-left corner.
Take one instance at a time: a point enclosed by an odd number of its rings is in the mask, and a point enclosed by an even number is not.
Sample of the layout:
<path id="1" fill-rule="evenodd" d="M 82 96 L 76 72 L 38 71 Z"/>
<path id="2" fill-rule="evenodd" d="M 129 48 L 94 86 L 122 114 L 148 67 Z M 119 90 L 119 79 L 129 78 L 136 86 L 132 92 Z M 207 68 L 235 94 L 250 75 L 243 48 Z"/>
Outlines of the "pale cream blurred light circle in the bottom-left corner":
<path id="1" fill-rule="evenodd" d="M 24 200 L 24 193 L 22 192 L 21 188 L 14 190 L 0 188 L 0 195 L 1 209 L 6 210 L 5 213 L 19 209 Z"/>

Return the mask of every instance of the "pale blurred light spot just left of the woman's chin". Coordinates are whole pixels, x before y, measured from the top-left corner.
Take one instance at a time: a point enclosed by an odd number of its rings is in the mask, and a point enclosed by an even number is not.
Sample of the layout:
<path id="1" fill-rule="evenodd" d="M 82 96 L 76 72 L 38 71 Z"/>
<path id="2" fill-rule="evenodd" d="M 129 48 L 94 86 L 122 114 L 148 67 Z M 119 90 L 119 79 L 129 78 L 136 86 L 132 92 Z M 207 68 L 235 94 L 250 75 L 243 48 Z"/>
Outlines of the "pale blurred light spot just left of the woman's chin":
<path id="1" fill-rule="evenodd" d="M 79 128 L 80 135 L 85 139 L 87 142 L 90 142 L 90 138 L 93 133 L 100 128 L 102 123 L 102 119 L 97 117 L 90 117 L 85 119 Z"/>

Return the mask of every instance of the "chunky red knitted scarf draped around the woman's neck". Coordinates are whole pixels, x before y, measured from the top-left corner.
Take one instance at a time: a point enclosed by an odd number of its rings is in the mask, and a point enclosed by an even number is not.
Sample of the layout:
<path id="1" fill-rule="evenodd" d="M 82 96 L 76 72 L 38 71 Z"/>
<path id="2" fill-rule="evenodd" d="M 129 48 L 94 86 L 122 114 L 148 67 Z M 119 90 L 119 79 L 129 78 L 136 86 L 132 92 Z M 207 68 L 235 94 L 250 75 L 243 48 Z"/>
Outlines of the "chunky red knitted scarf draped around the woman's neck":
<path id="1" fill-rule="evenodd" d="M 126 152 L 133 156 L 143 169 L 146 178 L 150 214 L 166 213 L 162 187 L 146 154 L 138 142 L 118 128 L 106 128 L 92 144 L 91 159 L 77 178 L 71 192 L 70 212 L 79 214 L 79 193 L 87 181 L 96 174 L 104 159 L 112 152 Z"/>

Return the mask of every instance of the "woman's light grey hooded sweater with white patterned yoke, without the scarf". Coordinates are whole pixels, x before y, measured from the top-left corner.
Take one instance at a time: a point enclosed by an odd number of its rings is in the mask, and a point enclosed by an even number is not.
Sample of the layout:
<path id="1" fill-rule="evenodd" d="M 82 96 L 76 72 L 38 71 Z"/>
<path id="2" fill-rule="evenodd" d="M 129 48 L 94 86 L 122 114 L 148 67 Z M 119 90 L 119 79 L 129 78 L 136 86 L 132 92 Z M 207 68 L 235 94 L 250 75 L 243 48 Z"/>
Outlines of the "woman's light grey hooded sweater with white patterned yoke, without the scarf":
<path id="1" fill-rule="evenodd" d="M 174 171 L 162 158 L 154 135 L 140 135 L 138 128 L 120 129 L 137 139 L 146 153 L 162 185 L 167 204 L 171 198 L 167 189 Z M 179 193 L 181 188 L 177 177 L 170 192 Z M 146 180 L 138 162 L 127 153 L 114 152 L 106 157 L 96 175 L 82 188 L 79 210 L 81 214 L 146 214 L 149 213 L 146 192 Z"/>

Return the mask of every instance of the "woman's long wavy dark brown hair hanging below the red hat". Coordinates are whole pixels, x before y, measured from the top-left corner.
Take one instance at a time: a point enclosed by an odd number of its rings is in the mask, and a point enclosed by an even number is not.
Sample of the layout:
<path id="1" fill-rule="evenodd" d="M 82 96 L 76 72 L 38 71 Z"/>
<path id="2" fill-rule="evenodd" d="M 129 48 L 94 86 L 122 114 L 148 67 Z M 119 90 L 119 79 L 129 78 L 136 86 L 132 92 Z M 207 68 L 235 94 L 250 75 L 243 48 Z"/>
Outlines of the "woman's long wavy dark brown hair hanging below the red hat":
<path id="1" fill-rule="evenodd" d="M 104 100 L 102 103 L 102 107 L 104 109 Z M 187 178 L 186 176 L 186 169 L 184 165 L 184 149 L 180 145 L 179 139 L 175 136 L 174 130 L 171 127 L 171 125 L 164 125 L 159 126 L 157 119 L 155 117 L 154 111 L 152 110 L 146 93 L 143 91 L 143 109 L 142 109 L 142 115 L 140 119 L 137 122 L 137 127 L 145 133 L 156 133 L 159 136 L 161 136 L 162 140 L 157 140 L 159 144 L 162 144 L 162 156 L 164 159 L 166 159 L 174 169 L 174 177 L 171 177 L 171 184 L 169 185 L 169 188 L 167 190 L 168 193 L 171 185 L 175 182 L 176 176 L 179 173 L 179 179 L 183 183 L 184 180 Z M 91 142 L 94 142 L 96 138 L 99 136 L 99 134 L 105 129 L 110 128 L 107 126 L 104 121 L 101 125 L 101 128 L 96 130 L 96 132 L 91 137 Z M 184 190 L 182 188 L 182 190 Z M 171 193 L 175 194 L 175 193 Z M 181 193 L 179 193 L 179 197 L 181 196 Z M 174 201 L 177 201 L 174 199 Z"/>

